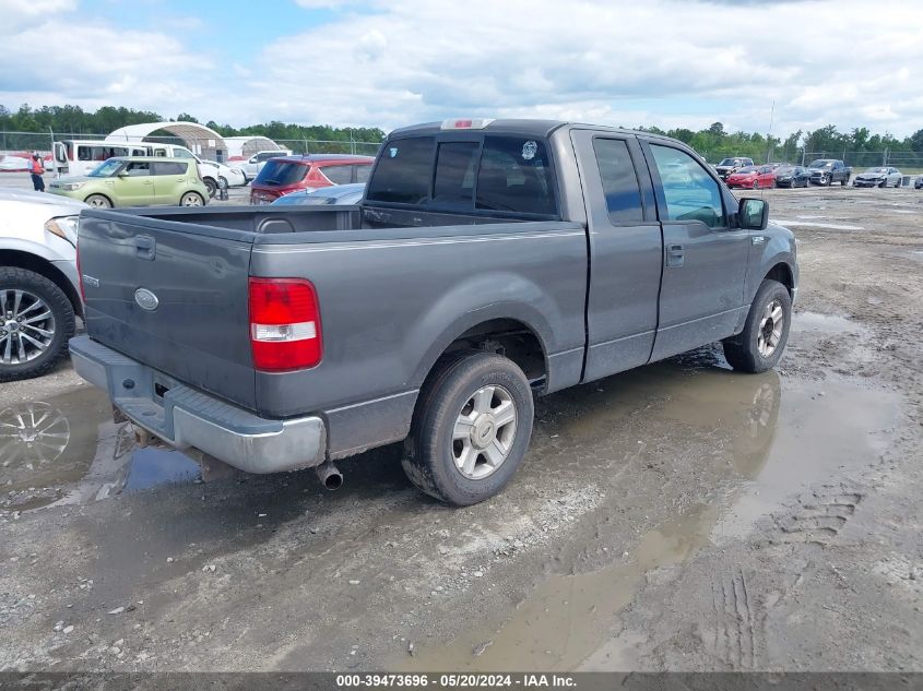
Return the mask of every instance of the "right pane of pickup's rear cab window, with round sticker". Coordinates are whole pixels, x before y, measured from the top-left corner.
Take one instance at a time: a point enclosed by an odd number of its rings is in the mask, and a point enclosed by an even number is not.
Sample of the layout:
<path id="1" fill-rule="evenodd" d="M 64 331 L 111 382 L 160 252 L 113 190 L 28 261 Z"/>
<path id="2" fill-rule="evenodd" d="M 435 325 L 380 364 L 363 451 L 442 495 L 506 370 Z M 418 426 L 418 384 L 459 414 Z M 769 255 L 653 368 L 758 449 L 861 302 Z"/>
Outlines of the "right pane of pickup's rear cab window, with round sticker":
<path id="1" fill-rule="evenodd" d="M 475 209 L 557 214 L 545 143 L 521 136 L 485 136 Z"/>

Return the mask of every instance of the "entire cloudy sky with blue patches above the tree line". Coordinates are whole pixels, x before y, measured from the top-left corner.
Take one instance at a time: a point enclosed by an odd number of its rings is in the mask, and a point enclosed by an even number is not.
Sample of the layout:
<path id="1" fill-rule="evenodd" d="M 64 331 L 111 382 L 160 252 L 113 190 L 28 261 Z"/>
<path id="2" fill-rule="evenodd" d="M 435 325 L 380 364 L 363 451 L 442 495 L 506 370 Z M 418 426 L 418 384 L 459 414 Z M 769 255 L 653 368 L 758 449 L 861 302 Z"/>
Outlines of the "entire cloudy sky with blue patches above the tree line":
<path id="1" fill-rule="evenodd" d="M 384 130 L 459 116 L 923 128 L 909 0 L 0 0 L 0 104 Z"/>

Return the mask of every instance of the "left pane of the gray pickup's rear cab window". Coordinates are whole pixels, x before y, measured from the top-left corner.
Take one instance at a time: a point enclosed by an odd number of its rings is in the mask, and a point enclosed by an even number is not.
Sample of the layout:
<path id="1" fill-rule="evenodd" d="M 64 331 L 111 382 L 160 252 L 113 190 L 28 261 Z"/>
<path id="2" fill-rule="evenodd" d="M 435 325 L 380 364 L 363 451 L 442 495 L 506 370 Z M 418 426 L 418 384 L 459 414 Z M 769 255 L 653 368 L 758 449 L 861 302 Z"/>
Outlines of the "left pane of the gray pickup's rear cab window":
<path id="1" fill-rule="evenodd" d="M 367 199 L 399 204 L 424 203 L 429 198 L 435 142 L 431 136 L 390 141 L 369 180 Z"/>

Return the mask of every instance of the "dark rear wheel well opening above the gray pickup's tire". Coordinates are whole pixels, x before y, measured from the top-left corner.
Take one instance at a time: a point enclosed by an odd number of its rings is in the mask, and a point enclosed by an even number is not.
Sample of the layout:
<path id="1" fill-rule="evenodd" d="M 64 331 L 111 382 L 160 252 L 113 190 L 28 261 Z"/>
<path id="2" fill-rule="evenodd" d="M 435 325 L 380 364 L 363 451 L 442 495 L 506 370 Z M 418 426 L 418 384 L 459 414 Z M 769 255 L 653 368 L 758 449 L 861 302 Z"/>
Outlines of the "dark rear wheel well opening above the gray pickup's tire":
<path id="1" fill-rule="evenodd" d="M 547 382 L 547 358 L 535 332 L 514 319 L 493 319 L 472 326 L 449 344 L 445 355 L 457 350 L 486 350 L 516 362 L 533 388 Z"/>

